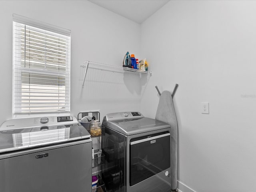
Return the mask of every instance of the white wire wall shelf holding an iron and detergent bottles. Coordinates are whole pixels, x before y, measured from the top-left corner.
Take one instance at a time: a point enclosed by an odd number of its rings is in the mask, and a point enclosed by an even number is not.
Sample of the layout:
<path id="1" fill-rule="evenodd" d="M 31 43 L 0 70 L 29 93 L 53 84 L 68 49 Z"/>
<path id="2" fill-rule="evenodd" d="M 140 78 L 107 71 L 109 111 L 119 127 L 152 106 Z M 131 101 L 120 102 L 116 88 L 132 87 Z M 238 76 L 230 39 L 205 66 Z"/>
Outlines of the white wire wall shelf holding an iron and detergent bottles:
<path id="1" fill-rule="evenodd" d="M 123 66 L 118 66 L 118 65 L 109 65 L 109 64 L 98 63 L 98 62 L 93 62 L 93 61 L 85 61 L 84 65 L 81 65 L 80 67 L 85 68 L 84 82 L 85 82 L 85 77 L 86 77 L 88 68 L 100 69 L 100 70 L 106 70 L 106 71 L 112 71 L 112 72 L 136 72 L 138 74 L 152 75 L 151 71 L 132 69 L 132 68 L 128 68 L 128 67 L 123 67 Z M 84 82 L 83 82 L 82 87 L 84 87 Z"/>

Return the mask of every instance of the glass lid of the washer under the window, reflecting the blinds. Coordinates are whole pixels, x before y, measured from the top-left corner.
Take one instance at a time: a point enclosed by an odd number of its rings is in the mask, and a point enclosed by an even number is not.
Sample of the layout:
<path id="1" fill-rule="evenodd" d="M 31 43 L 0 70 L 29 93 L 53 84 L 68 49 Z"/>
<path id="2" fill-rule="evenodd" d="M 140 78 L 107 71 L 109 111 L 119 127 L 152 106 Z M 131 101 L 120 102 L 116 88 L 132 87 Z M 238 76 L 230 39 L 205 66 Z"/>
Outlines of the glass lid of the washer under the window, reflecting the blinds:
<path id="1" fill-rule="evenodd" d="M 72 140 L 90 139 L 90 134 L 76 124 L 38 126 L 0 131 L 0 153 Z"/>

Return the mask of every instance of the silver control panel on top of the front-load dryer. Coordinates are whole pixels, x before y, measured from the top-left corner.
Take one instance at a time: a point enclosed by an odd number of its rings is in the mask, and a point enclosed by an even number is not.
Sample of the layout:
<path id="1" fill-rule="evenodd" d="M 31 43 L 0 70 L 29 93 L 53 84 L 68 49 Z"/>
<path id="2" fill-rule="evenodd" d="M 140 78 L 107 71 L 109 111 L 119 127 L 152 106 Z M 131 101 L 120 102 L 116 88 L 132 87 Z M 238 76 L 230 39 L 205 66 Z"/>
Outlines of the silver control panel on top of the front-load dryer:
<path id="1" fill-rule="evenodd" d="M 106 114 L 106 120 L 119 120 L 119 119 L 138 119 L 144 117 L 140 112 L 118 112 Z"/>

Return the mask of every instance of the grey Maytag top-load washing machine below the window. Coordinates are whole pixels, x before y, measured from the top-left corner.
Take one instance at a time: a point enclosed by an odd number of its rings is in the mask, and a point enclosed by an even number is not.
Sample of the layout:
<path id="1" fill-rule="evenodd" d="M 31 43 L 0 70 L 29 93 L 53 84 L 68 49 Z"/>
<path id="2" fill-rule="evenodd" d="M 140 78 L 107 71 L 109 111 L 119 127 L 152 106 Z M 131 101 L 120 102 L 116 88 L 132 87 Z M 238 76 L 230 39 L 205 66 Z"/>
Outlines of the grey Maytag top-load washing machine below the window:
<path id="1" fill-rule="evenodd" d="M 89 192 L 92 139 L 74 116 L 7 120 L 0 126 L 0 192 Z"/>

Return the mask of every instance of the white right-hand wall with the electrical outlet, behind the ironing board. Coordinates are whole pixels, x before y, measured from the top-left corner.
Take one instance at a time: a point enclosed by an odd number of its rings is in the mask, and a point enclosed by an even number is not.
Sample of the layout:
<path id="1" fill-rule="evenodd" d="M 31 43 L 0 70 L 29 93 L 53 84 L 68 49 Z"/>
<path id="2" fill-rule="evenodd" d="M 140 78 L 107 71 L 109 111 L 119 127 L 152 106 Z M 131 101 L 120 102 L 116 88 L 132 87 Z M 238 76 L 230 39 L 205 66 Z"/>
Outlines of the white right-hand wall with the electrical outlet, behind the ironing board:
<path id="1" fill-rule="evenodd" d="M 179 84 L 178 180 L 196 192 L 256 191 L 255 10 L 256 1 L 172 0 L 141 25 L 154 72 L 141 112 L 155 116 L 154 86 Z"/>

